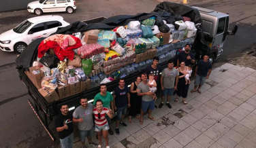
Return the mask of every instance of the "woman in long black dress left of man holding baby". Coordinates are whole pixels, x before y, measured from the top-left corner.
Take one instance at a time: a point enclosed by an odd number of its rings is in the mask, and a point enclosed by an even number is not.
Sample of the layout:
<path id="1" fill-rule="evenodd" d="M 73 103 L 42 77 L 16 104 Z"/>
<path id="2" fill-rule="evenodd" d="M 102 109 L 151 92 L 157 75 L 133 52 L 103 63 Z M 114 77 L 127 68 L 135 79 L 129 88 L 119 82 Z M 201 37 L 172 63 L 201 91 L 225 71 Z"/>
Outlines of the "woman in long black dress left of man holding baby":
<path id="1" fill-rule="evenodd" d="M 142 79 L 140 79 L 140 76 L 137 76 L 136 81 L 133 81 L 133 83 L 131 83 L 131 88 L 130 88 L 131 107 L 129 108 L 129 120 L 128 120 L 128 122 L 130 123 L 131 123 L 131 116 L 136 116 L 138 119 L 140 119 L 140 116 L 138 114 L 140 114 L 140 109 L 142 107 L 142 96 L 138 96 L 136 92 L 137 86 L 140 84 L 140 81 L 142 81 Z"/>

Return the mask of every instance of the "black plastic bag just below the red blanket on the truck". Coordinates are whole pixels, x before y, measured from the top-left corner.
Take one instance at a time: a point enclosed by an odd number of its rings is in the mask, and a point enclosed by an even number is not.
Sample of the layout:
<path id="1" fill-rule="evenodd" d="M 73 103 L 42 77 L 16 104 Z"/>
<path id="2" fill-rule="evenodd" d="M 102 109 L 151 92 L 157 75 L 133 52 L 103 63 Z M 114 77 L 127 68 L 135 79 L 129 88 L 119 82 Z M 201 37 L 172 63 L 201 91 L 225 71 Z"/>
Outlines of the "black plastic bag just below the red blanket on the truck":
<path id="1" fill-rule="evenodd" d="M 52 54 L 45 53 L 44 56 L 39 60 L 42 64 L 50 69 L 57 67 L 59 58 L 57 56 L 53 56 Z"/>

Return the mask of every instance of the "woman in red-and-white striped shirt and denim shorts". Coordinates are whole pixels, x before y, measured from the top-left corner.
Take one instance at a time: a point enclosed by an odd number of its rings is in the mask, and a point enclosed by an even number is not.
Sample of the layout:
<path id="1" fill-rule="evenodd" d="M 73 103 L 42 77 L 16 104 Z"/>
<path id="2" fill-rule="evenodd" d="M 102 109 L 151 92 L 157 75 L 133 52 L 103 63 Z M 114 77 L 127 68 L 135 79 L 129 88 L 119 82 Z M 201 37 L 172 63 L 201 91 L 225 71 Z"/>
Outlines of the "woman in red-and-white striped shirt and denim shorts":
<path id="1" fill-rule="evenodd" d="M 96 101 L 96 107 L 93 109 L 93 113 L 95 115 L 95 131 L 97 132 L 99 139 L 98 148 L 101 147 L 101 134 L 103 134 L 103 137 L 106 141 L 106 148 L 110 148 L 110 146 L 108 146 L 108 130 L 110 127 L 108 126 L 106 114 L 108 117 L 112 118 L 112 110 L 103 107 L 103 102 L 99 99 Z"/>

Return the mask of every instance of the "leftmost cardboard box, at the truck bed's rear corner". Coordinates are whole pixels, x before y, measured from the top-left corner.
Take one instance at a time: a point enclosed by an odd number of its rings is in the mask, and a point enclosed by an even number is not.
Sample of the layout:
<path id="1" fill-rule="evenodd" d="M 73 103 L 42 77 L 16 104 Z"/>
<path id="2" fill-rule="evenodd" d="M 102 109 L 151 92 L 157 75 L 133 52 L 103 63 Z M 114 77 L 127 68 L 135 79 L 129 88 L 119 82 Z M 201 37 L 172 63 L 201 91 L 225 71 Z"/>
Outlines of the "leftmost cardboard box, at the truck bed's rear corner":
<path id="1" fill-rule="evenodd" d="M 35 70 L 40 71 L 40 73 L 37 73 L 37 74 L 32 73 L 32 71 L 35 71 Z M 28 77 L 29 77 L 29 79 L 31 79 L 34 86 L 37 89 L 42 88 L 41 81 L 44 78 L 44 71 L 42 71 L 39 67 L 30 67 L 29 71 L 30 71 L 30 75 L 29 74 L 27 74 L 27 75 L 29 75 Z"/>

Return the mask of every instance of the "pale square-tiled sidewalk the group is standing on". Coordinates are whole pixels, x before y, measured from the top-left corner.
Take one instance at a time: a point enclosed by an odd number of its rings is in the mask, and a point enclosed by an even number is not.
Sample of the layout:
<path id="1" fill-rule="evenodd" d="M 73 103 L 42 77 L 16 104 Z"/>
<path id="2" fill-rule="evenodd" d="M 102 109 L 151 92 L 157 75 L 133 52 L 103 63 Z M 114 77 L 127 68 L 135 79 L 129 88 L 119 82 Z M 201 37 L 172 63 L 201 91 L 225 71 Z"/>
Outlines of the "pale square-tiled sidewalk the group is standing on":
<path id="1" fill-rule="evenodd" d="M 174 103 L 172 96 L 172 109 L 163 105 L 153 111 L 155 122 L 147 115 L 143 125 L 135 117 L 131 123 L 125 118 L 127 128 L 121 126 L 120 135 L 109 134 L 110 147 L 256 147 L 254 69 L 226 63 L 212 71 L 202 86 L 202 94 L 191 94 L 193 81 L 189 88 L 188 106 L 182 104 L 182 98 Z M 115 123 L 111 127 L 114 130 Z M 98 143 L 95 136 L 93 142 Z M 80 142 L 74 143 L 76 147 L 80 147 Z"/>

